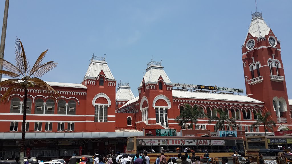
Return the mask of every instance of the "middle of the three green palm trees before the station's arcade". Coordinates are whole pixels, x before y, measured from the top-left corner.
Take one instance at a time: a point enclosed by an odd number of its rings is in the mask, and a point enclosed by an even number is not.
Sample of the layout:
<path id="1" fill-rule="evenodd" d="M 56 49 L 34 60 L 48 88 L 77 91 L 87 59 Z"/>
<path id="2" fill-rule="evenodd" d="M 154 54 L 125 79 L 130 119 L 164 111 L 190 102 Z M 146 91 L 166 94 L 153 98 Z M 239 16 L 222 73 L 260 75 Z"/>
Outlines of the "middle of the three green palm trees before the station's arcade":
<path id="1" fill-rule="evenodd" d="M 217 121 L 217 123 L 215 124 L 215 130 L 225 130 L 225 124 L 231 126 L 233 129 L 237 128 L 237 123 L 235 121 L 234 118 L 229 118 L 228 113 L 225 113 L 225 111 L 223 110 L 219 110 L 216 109 L 217 114 L 215 116 L 212 116 L 211 118 L 209 118 L 209 124 L 211 124 L 211 122 L 213 121 Z"/>

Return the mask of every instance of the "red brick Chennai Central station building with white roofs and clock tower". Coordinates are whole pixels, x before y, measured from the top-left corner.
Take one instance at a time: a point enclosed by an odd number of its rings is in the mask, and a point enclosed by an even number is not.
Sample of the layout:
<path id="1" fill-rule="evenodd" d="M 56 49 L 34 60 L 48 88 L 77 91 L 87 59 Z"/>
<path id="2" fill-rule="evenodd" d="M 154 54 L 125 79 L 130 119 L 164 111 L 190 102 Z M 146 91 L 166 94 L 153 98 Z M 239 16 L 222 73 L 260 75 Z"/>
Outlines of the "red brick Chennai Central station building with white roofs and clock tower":
<path id="1" fill-rule="evenodd" d="M 61 156 L 65 150 L 69 154 L 78 154 L 79 149 L 83 154 L 122 150 L 125 138 L 142 135 L 144 128 L 179 131 L 174 119 L 184 104 L 198 105 L 208 116 L 223 110 L 236 119 L 237 130 L 246 132 L 264 132 L 263 126 L 251 129 L 250 125 L 256 121 L 256 113 L 267 111 L 277 123 L 275 131 L 292 128 L 292 100 L 287 96 L 280 41 L 261 13 L 252 15 L 242 62 L 247 96 L 227 94 L 241 92 L 233 88 L 172 83 L 161 62 L 151 61 L 145 75 L 138 77 L 139 95 L 134 97 L 129 83 L 117 84 L 105 58 L 94 56 L 81 84 L 47 82 L 60 94 L 56 101 L 44 90 L 28 90 L 26 147 L 30 155 L 44 157 Z M 0 96 L 8 88 L 1 86 Z M 19 151 L 23 95 L 14 90 L 8 102 L 0 104 L 0 154 L 4 156 Z M 207 121 L 200 118 L 194 127 L 214 132 L 215 123 Z"/>

